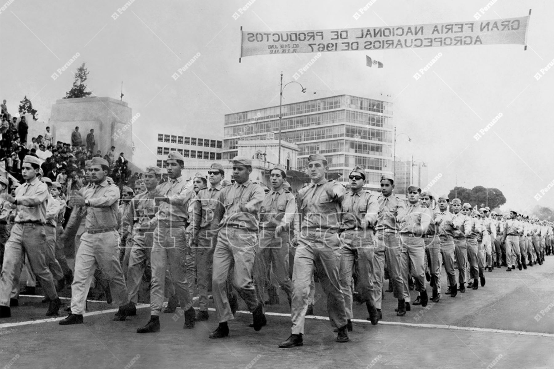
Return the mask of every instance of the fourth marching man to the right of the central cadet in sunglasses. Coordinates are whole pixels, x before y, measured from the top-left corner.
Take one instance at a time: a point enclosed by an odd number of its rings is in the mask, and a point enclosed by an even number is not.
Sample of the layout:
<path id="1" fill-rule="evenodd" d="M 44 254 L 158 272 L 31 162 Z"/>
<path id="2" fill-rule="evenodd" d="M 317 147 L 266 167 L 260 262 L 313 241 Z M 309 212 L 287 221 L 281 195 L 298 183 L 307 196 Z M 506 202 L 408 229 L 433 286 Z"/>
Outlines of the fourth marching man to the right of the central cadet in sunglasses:
<path id="1" fill-rule="evenodd" d="M 454 225 L 452 213 L 448 210 L 448 204 L 450 200 L 448 196 L 443 195 L 437 199 L 439 205 L 439 211 L 435 213 L 435 224 L 439 227 L 439 240 L 440 240 L 440 253 L 443 255 L 444 260 L 444 269 L 447 272 L 450 297 L 456 297 L 458 294 L 458 284 L 456 284 L 456 274 L 454 271 L 454 231 L 456 230 L 456 225 Z M 464 257 L 460 253 L 460 259 L 458 259 L 459 267 L 459 281 L 460 288 L 464 283 L 465 268 L 463 265 Z M 462 267 L 460 269 L 460 266 Z M 448 290 L 447 290 L 448 294 Z"/>

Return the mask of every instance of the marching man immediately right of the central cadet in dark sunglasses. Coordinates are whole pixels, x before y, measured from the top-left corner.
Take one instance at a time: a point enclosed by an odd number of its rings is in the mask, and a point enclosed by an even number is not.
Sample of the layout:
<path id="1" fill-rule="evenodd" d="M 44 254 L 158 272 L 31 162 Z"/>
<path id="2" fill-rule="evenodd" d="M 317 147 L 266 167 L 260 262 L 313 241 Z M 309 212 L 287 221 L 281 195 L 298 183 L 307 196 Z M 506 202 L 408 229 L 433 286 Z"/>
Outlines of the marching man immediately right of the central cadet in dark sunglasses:
<path id="1" fill-rule="evenodd" d="M 402 280 L 402 247 L 398 236 L 401 219 L 406 212 L 406 204 L 393 194 L 394 178 L 392 175 L 381 176 L 381 194 L 377 197 L 379 211 L 377 213 L 377 225 L 375 226 L 377 248 L 374 253 L 373 270 L 384 275 L 384 264 L 387 263 L 389 281 L 392 281 L 394 297 L 398 299 L 397 316 L 406 315 L 404 300 L 404 282 Z M 373 285 L 374 301 L 378 319 L 383 319 L 381 312 L 381 300 L 383 281 L 375 280 Z"/>

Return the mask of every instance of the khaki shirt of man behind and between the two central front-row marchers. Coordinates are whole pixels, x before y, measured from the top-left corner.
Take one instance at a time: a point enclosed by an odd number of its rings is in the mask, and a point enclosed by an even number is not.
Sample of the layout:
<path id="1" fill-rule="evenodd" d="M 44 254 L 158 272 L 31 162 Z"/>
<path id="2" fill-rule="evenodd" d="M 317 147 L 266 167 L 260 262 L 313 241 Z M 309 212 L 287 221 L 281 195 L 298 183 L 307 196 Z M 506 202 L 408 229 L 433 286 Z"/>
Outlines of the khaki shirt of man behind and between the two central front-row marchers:
<path id="1" fill-rule="evenodd" d="M 296 200 L 292 193 L 270 189 L 260 208 L 260 227 L 275 230 L 278 225 L 289 226 L 296 213 Z"/>

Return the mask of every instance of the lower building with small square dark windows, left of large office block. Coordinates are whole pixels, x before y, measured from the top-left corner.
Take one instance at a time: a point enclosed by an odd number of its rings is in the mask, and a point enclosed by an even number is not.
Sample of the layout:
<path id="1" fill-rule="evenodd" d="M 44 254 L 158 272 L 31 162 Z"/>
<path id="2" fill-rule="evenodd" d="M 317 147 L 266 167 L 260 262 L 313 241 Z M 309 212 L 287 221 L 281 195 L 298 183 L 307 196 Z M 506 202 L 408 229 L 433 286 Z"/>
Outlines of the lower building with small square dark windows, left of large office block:
<path id="1" fill-rule="evenodd" d="M 170 151 L 176 150 L 184 157 L 202 160 L 220 160 L 222 158 L 222 141 L 158 133 L 156 165 L 165 168 Z"/>

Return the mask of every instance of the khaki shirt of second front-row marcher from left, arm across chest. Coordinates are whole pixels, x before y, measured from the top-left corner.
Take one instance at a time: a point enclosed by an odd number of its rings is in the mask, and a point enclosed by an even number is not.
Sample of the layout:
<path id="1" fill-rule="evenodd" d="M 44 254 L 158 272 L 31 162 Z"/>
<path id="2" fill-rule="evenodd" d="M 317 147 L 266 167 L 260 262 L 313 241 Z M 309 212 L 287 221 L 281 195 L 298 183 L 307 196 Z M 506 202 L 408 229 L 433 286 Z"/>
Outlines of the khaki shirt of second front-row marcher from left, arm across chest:
<path id="1" fill-rule="evenodd" d="M 90 203 L 86 207 L 86 229 L 117 229 L 119 187 L 104 180 L 100 184 L 88 184 L 79 193 Z"/>

